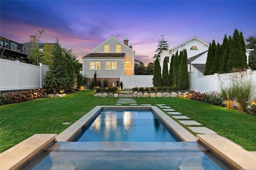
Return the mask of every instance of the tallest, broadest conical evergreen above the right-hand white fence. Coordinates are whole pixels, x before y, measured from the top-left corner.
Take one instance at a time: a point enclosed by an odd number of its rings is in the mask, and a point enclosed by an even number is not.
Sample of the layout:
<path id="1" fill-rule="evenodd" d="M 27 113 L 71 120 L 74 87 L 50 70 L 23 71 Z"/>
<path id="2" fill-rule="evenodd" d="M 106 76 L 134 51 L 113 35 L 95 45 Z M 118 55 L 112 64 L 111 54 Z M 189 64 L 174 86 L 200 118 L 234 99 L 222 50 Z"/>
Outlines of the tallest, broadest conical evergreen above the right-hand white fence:
<path id="1" fill-rule="evenodd" d="M 241 45 L 240 34 L 237 29 L 235 29 L 232 42 L 230 45 L 229 59 L 227 63 L 227 70 L 232 71 L 232 69 L 244 69 L 248 65 L 245 62 L 247 60 L 244 53 L 243 47 Z"/>

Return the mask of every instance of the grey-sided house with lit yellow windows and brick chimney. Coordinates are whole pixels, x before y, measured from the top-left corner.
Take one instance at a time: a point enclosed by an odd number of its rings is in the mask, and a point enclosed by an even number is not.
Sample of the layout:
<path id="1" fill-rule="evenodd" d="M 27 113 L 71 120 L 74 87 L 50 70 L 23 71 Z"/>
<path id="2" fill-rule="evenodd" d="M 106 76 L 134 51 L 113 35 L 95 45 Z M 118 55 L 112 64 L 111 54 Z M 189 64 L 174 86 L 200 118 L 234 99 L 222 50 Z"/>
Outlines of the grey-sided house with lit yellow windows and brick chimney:
<path id="1" fill-rule="evenodd" d="M 107 79 L 110 87 L 116 87 L 122 75 L 134 75 L 135 51 L 132 43 L 128 44 L 128 37 L 121 42 L 111 36 L 95 47 L 88 55 L 82 57 L 83 75 L 91 81 L 96 71 L 97 79 Z"/>

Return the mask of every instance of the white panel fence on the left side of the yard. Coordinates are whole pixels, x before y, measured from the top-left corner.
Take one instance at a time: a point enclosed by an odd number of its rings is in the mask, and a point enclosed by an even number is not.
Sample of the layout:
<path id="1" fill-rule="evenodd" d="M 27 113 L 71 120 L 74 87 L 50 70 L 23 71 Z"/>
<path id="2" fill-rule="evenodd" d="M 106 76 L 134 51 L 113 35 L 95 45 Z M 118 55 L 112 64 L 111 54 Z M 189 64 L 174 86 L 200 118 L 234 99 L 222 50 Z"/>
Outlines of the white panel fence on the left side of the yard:
<path id="1" fill-rule="evenodd" d="M 0 59 L 0 91 L 42 88 L 48 66 Z"/>

